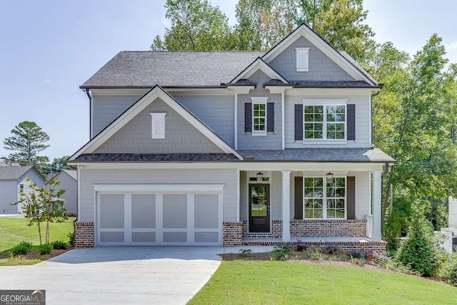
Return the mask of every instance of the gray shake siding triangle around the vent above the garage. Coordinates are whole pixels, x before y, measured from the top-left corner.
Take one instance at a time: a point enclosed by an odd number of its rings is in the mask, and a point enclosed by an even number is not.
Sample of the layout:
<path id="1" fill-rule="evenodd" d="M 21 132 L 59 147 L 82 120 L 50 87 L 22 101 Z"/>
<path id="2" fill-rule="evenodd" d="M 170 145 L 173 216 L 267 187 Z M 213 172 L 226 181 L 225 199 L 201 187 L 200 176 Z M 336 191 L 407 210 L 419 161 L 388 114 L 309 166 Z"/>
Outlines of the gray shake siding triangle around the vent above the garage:
<path id="1" fill-rule="evenodd" d="M 151 112 L 166 112 L 165 139 L 151 139 Z M 104 142 L 95 154 L 181 154 L 221 153 L 216 144 L 192 126 L 161 99 L 131 119 L 110 139 Z"/>

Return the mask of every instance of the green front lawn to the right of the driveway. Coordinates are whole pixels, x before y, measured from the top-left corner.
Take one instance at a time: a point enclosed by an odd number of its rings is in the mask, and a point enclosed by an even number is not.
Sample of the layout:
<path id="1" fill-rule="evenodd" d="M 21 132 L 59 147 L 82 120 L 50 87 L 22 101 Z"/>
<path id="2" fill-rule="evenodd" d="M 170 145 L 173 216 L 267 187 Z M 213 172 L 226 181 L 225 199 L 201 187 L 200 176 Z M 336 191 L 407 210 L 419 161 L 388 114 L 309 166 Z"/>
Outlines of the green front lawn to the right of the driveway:
<path id="1" fill-rule="evenodd" d="M 457 288 L 405 274 L 289 261 L 222 261 L 189 304 L 456 304 Z"/>

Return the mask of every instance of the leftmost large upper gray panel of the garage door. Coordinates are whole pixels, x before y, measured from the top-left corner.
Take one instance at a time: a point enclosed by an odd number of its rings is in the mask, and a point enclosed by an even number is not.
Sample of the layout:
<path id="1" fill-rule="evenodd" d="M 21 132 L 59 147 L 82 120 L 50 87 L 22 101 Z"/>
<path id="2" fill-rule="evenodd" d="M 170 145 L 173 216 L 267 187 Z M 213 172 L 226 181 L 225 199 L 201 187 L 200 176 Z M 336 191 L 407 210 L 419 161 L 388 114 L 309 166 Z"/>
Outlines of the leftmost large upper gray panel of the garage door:
<path id="1" fill-rule="evenodd" d="M 124 195 L 100 195 L 100 228 L 124 229 Z"/>

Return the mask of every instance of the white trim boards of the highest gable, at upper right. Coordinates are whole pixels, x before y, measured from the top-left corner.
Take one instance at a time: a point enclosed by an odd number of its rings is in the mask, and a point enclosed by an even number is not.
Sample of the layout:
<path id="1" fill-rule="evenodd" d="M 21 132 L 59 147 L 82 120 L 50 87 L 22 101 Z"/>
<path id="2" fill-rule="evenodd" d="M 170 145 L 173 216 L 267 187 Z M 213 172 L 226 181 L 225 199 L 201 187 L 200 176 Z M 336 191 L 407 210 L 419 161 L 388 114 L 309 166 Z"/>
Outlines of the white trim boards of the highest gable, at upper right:
<path id="1" fill-rule="evenodd" d="M 346 71 L 346 73 L 352 76 L 356 81 L 366 81 L 372 86 L 378 85 L 378 83 L 374 81 L 373 78 L 367 76 L 368 73 L 366 71 L 363 71 L 360 66 L 354 65 L 353 62 L 340 54 L 336 49 L 333 48 L 333 46 L 322 39 L 321 36 L 318 36 L 316 32 L 306 26 L 306 24 L 301 24 L 301 26 L 298 26 L 298 28 L 292 31 L 291 34 L 276 44 L 276 46 L 273 46 L 270 51 L 262 56 L 263 61 L 269 64 L 271 61 L 273 61 L 273 59 L 276 58 L 276 56 L 278 56 L 278 54 L 281 54 L 282 51 L 293 44 L 293 42 L 299 39 L 301 36 L 308 39 L 308 41 L 310 41 L 313 46 L 316 46 L 316 48 L 322 51 L 323 54 L 326 54 L 326 56 L 338 64 L 341 69 Z"/>

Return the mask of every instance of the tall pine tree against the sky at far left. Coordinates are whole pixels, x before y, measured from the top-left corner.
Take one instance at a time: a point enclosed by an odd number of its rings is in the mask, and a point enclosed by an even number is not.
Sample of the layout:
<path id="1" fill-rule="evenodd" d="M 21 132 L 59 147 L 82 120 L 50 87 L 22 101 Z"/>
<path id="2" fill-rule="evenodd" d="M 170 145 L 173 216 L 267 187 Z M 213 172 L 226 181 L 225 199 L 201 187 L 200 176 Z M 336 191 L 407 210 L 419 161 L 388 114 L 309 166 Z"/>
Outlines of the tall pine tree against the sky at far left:
<path id="1" fill-rule="evenodd" d="M 22 165 L 40 165 L 49 161 L 47 156 L 39 156 L 47 149 L 49 136 L 40 126 L 32 121 L 22 121 L 11 130 L 11 136 L 5 139 L 4 149 L 14 151 L 4 159 L 18 162 Z"/>

